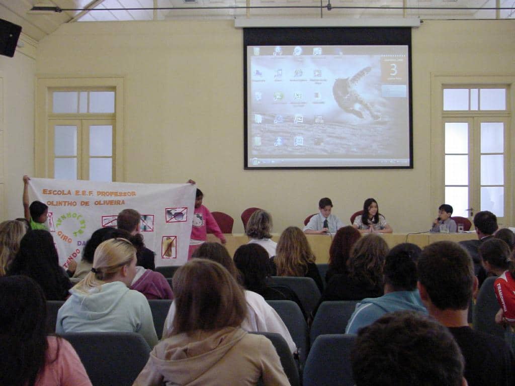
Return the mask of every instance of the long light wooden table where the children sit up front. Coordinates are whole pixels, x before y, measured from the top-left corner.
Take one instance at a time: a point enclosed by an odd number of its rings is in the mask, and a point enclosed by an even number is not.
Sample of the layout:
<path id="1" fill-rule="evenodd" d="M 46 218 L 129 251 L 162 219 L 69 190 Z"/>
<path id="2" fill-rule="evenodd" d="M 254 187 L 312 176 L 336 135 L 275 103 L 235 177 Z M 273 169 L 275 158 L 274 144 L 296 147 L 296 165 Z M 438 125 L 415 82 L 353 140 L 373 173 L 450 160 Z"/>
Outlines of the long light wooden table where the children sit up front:
<path id="1" fill-rule="evenodd" d="M 417 244 L 420 248 L 424 248 L 435 241 L 451 240 L 451 241 L 462 241 L 462 240 L 475 240 L 477 235 L 475 232 L 466 233 L 379 233 L 384 237 L 388 247 L 392 248 L 397 244 L 403 242 L 412 242 Z M 273 234 L 272 240 L 278 241 L 279 234 Z M 226 234 L 227 239 L 226 248 L 234 256 L 234 252 L 240 245 L 246 244 L 249 238 L 243 234 Z M 311 249 L 316 257 L 317 264 L 323 264 L 329 262 L 329 248 L 333 237 L 331 235 L 306 235 L 307 241 L 310 243 Z M 219 241 L 215 235 L 209 234 L 208 241 Z"/>

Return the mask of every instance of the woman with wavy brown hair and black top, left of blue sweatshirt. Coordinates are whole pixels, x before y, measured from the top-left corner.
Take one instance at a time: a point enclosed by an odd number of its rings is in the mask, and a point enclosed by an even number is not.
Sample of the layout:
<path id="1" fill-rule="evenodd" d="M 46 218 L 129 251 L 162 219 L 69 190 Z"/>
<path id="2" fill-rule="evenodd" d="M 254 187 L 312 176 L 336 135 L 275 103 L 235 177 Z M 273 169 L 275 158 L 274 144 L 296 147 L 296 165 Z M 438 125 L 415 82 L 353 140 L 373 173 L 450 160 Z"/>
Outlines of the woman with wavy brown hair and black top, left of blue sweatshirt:
<path id="1" fill-rule="evenodd" d="M 383 264 L 388 252 L 386 241 L 379 235 L 357 240 L 347 261 L 348 273 L 336 274 L 329 280 L 321 301 L 382 296 Z"/>

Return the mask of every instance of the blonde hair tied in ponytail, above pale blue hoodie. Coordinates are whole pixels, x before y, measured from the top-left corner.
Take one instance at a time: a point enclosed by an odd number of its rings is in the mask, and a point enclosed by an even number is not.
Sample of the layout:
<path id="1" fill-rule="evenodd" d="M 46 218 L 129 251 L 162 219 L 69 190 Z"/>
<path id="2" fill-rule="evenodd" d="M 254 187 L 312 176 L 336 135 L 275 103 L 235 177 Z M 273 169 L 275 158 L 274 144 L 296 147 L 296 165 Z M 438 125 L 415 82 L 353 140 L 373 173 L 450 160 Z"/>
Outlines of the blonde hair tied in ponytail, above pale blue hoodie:
<path id="1" fill-rule="evenodd" d="M 135 258 L 136 249 L 127 239 L 116 238 L 100 243 L 93 256 L 91 272 L 74 289 L 83 293 L 90 293 L 92 289 L 99 288 L 106 283 Z"/>

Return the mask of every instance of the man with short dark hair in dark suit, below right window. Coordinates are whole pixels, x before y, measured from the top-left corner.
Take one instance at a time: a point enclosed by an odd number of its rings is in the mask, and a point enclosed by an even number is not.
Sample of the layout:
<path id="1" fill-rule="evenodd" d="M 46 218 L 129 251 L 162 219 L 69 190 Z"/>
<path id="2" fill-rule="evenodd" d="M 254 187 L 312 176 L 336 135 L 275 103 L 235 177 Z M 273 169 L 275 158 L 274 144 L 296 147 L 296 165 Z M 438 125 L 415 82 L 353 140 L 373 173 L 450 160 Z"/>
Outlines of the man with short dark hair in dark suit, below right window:
<path id="1" fill-rule="evenodd" d="M 488 210 L 477 212 L 474 216 L 474 226 L 477 233 L 477 240 L 460 241 L 461 247 L 465 248 L 474 262 L 474 273 L 479 282 L 479 287 L 486 279 L 486 271 L 481 265 L 479 258 L 479 245 L 493 237 L 497 230 L 497 217 Z"/>

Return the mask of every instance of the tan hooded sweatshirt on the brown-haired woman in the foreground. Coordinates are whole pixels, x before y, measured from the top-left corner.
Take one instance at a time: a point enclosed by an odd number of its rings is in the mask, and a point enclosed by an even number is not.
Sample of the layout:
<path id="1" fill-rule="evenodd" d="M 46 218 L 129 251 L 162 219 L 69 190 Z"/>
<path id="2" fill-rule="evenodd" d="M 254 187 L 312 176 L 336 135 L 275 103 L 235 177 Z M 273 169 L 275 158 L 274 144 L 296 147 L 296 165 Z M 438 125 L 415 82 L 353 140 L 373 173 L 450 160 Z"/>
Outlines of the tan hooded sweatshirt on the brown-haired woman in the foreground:
<path id="1" fill-rule="evenodd" d="M 272 343 L 237 327 L 173 335 L 150 353 L 133 386 L 289 385 Z"/>

